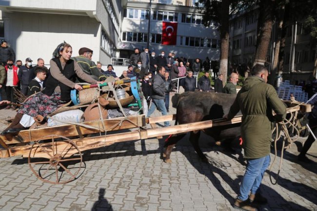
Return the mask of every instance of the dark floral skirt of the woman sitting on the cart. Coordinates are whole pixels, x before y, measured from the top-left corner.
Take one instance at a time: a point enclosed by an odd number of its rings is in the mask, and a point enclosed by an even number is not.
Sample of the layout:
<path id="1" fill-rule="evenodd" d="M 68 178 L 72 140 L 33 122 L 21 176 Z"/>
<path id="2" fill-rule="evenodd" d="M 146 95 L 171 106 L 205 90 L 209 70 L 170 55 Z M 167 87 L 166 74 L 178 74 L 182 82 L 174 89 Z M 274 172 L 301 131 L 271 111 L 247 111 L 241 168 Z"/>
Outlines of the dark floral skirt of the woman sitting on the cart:
<path id="1" fill-rule="evenodd" d="M 21 106 L 18 113 L 26 114 L 32 117 L 47 115 L 56 111 L 65 101 L 60 100 L 60 93 L 54 92 L 51 96 L 38 93 L 34 96 L 29 97 Z"/>

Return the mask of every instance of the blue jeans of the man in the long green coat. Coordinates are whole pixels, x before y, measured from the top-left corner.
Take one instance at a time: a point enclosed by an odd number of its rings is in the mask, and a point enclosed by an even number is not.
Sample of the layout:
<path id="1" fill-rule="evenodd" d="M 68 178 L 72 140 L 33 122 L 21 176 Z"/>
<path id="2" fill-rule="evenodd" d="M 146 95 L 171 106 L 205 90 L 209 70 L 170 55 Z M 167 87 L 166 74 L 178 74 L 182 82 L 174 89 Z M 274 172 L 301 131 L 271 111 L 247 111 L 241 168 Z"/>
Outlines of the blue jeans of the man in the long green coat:
<path id="1" fill-rule="evenodd" d="M 270 165 L 270 161 L 270 155 L 247 160 L 248 164 L 242 178 L 238 199 L 245 201 L 248 199 L 250 191 L 252 194 L 258 192 L 264 172 Z"/>

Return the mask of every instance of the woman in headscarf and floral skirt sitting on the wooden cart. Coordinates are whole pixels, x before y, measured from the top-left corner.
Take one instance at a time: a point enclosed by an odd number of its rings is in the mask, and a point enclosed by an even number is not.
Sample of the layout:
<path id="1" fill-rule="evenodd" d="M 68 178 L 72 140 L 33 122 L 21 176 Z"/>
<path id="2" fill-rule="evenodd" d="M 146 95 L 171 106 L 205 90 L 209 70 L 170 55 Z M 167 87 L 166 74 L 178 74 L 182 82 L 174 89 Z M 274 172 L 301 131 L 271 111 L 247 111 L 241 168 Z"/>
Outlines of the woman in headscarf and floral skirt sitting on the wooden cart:
<path id="1" fill-rule="evenodd" d="M 100 83 L 85 74 L 78 63 L 70 59 L 72 53 L 70 44 L 63 42 L 58 45 L 53 52 L 54 58 L 50 60 L 50 73 L 46 80 L 45 89 L 24 101 L 12 123 L 1 134 L 24 130 L 32 125 L 33 121 L 30 121 L 33 119 L 32 117 L 41 115 L 45 118 L 69 102 L 72 89 L 82 90 L 82 87 L 75 83 L 76 76 L 91 84 Z M 28 121 L 20 121 L 22 117 Z"/>

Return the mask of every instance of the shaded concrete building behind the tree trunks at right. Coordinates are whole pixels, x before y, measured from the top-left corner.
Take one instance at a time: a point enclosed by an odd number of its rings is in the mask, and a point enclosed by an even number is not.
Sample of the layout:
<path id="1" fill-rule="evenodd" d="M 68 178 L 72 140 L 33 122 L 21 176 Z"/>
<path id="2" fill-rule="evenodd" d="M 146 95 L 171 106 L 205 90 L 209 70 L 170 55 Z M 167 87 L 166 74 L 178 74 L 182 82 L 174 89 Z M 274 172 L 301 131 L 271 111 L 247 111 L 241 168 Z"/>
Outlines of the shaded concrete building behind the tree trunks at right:
<path id="1" fill-rule="evenodd" d="M 258 8 L 233 16 L 230 20 L 229 64 L 245 63 L 252 66 L 256 52 Z M 274 59 L 277 24 L 273 26 L 271 44 L 267 53 L 270 70 Z M 286 28 L 287 38 L 284 48 L 283 80 L 292 84 L 305 84 L 312 77 L 316 46 L 310 46 L 310 36 L 304 34 L 302 23 L 297 22 Z"/>

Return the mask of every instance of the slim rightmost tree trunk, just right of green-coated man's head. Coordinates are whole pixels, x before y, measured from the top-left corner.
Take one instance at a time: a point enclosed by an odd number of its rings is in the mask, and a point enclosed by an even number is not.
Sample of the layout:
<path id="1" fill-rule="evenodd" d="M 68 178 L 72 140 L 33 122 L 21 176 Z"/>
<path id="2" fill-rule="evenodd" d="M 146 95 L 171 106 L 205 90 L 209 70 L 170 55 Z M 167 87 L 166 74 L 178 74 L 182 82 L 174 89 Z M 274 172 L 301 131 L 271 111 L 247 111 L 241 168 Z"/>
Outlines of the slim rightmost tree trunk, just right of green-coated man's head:
<path id="1" fill-rule="evenodd" d="M 280 49 L 280 43 L 281 43 L 281 36 L 282 36 L 282 28 L 283 28 L 283 20 L 284 20 L 284 12 L 285 12 L 285 0 L 283 0 L 282 5 L 280 5 L 280 9 L 278 10 L 278 27 L 277 27 L 277 40 L 275 45 L 275 51 L 274 51 L 274 59 L 273 59 L 273 65 L 271 70 L 271 75 L 269 77 L 269 83 L 274 86 L 275 84 L 275 78 L 277 74 L 277 65 L 278 65 L 278 56 L 279 56 L 279 49 Z M 285 42 L 284 42 L 285 44 Z"/>

